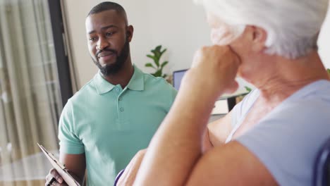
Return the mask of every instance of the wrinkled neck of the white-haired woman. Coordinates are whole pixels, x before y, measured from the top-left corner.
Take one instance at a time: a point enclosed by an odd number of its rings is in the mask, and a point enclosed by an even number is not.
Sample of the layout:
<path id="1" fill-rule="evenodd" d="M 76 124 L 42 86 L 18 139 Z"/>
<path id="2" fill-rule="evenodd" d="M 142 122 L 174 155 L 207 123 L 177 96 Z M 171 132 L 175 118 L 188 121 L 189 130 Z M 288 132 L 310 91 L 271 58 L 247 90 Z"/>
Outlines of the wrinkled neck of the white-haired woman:
<path id="1" fill-rule="evenodd" d="M 261 74 L 259 77 L 251 75 L 250 79 L 260 90 L 260 96 L 268 101 L 283 101 L 312 82 L 329 80 L 317 51 L 294 60 L 279 57 L 267 64 L 269 68 L 266 72 L 256 73 Z"/>

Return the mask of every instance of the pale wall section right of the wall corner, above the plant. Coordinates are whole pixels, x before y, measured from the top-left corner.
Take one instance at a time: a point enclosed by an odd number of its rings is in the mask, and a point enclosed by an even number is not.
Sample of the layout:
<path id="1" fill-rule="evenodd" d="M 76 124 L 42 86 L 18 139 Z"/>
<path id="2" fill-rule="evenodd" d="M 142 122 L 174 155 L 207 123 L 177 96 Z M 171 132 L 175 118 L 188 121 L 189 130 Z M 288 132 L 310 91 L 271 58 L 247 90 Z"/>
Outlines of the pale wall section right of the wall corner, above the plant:
<path id="1" fill-rule="evenodd" d="M 150 6 L 156 7 L 150 15 L 152 44 L 164 44 L 168 48 L 168 70 L 190 68 L 195 51 L 211 44 L 204 8 L 193 4 L 193 0 L 154 0 Z"/>

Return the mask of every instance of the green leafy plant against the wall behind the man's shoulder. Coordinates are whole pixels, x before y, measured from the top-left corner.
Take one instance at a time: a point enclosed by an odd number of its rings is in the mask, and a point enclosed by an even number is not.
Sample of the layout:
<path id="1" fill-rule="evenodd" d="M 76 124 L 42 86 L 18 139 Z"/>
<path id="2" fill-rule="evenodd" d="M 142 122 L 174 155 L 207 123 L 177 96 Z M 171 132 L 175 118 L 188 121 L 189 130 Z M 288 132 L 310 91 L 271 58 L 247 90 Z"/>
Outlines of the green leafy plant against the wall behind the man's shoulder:
<path id="1" fill-rule="evenodd" d="M 159 45 L 151 50 L 152 54 L 147 54 L 147 57 L 152 59 L 152 63 L 147 62 L 145 66 L 149 68 L 154 68 L 154 73 L 151 73 L 152 75 L 154 75 L 154 77 L 167 77 L 167 74 L 163 73 L 163 69 L 164 66 L 169 63 L 169 61 L 160 62 L 160 58 L 165 51 L 166 49 L 161 49 L 161 45 Z"/>

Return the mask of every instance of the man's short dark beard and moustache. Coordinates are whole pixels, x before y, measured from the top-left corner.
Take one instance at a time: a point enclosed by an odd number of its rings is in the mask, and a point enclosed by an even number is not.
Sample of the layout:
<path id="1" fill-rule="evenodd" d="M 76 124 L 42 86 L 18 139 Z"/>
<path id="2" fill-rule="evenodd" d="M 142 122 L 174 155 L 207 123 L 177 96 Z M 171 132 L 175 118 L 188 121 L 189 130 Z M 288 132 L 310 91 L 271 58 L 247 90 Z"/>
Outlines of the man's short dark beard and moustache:
<path id="1" fill-rule="evenodd" d="M 106 64 L 105 66 L 102 66 L 99 63 L 99 58 L 97 57 L 99 55 L 99 53 L 101 53 L 102 51 L 110 51 L 110 52 L 114 53 L 117 56 L 116 61 L 112 64 Z M 128 58 L 129 53 L 130 53 L 130 44 L 128 42 L 128 39 L 126 39 L 123 49 L 121 49 L 120 56 L 118 56 L 118 51 L 116 51 L 114 49 L 105 48 L 103 50 L 97 51 L 97 53 L 95 54 L 96 59 L 95 58 L 92 58 L 92 59 L 93 59 L 95 65 L 97 65 L 97 67 L 101 71 L 102 75 L 108 76 L 108 75 L 114 75 L 114 74 L 118 73 L 121 70 L 121 68 L 123 68 L 123 64 L 125 63 L 126 59 Z"/>

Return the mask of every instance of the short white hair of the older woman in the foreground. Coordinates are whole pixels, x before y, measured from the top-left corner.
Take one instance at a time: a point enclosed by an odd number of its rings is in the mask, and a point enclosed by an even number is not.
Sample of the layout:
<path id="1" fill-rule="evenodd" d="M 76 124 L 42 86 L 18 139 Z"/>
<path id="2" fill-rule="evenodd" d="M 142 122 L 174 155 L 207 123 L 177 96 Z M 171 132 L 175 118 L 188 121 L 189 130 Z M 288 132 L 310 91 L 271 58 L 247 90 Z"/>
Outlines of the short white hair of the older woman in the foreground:
<path id="1" fill-rule="evenodd" d="M 267 32 L 267 54 L 298 58 L 317 49 L 329 0 L 195 0 L 233 27 L 255 25 Z M 239 30 L 239 29 L 238 29 Z M 236 32 L 236 36 L 242 32 Z"/>

